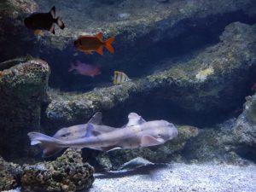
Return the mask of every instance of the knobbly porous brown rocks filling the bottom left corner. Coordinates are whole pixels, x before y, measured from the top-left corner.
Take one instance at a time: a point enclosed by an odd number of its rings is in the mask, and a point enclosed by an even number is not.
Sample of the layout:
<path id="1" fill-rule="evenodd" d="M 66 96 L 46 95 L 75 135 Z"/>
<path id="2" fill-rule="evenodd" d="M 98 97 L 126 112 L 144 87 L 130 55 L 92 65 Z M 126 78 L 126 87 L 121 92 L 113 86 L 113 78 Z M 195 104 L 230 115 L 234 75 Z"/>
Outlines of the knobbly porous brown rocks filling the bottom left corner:
<path id="1" fill-rule="evenodd" d="M 0 189 L 21 187 L 22 191 L 74 192 L 89 189 L 94 168 L 83 163 L 81 151 L 67 149 L 51 162 L 19 166 L 0 159 Z"/>

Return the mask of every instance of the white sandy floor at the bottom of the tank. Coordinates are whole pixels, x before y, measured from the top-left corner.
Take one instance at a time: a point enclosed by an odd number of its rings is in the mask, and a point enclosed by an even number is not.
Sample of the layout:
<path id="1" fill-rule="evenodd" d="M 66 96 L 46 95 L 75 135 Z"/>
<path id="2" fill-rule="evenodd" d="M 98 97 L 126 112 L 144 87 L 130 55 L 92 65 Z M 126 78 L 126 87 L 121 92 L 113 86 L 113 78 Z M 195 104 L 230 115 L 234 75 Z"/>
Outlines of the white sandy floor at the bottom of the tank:
<path id="1" fill-rule="evenodd" d="M 186 165 L 145 167 L 137 172 L 96 174 L 90 192 L 256 192 L 256 165 Z"/>

